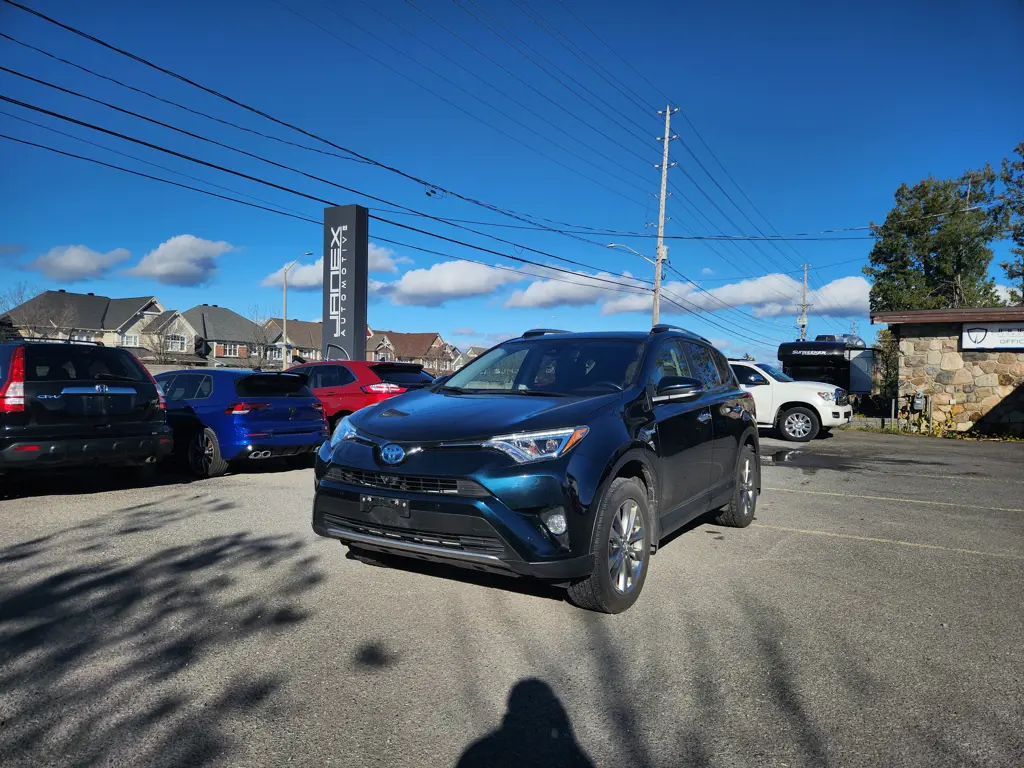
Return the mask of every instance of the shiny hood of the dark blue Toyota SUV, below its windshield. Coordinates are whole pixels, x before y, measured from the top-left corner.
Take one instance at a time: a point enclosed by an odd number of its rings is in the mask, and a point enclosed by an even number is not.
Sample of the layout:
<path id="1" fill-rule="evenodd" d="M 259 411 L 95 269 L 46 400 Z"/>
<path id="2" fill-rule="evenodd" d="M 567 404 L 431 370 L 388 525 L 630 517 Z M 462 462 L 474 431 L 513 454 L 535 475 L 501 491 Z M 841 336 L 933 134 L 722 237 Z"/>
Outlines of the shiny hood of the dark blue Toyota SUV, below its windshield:
<path id="1" fill-rule="evenodd" d="M 622 397 L 458 394 L 421 389 L 352 415 L 360 432 L 400 442 L 454 442 L 558 427 L 577 427 Z"/>

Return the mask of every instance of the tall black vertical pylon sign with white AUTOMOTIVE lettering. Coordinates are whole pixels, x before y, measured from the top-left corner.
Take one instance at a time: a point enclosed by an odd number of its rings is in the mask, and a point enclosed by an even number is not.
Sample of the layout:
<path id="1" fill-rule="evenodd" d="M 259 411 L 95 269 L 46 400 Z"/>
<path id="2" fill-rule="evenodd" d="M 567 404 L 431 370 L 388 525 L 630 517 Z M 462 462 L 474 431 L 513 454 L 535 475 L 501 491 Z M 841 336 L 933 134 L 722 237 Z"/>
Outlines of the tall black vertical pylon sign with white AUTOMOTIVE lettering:
<path id="1" fill-rule="evenodd" d="M 367 356 L 370 211 L 337 206 L 324 211 L 324 358 Z"/>

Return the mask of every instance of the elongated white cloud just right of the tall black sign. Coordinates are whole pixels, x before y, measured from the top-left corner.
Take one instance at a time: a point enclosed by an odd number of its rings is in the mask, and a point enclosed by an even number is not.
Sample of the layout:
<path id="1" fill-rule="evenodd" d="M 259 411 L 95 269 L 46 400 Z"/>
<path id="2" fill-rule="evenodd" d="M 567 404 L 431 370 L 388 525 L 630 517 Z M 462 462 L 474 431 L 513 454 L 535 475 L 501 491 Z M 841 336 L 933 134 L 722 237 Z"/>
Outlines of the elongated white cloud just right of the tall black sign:
<path id="1" fill-rule="evenodd" d="M 486 296 L 522 276 L 504 269 L 464 261 L 442 261 L 428 269 L 411 269 L 378 290 L 395 304 L 441 306 L 450 299 Z"/>

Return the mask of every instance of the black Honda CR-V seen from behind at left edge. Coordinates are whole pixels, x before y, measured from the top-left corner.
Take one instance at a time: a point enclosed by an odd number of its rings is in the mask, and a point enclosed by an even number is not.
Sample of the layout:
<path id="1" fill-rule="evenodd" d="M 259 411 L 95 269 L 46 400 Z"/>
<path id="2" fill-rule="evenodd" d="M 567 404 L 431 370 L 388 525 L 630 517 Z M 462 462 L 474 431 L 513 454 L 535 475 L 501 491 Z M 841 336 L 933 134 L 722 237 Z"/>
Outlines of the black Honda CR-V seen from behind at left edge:
<path id="1" fill-rule="evenodd" d="M 0 474 L 90 464 L 148 467 L 173 447 L 166 422 L 157 382 L 125 349 L 0 342 Z"/>

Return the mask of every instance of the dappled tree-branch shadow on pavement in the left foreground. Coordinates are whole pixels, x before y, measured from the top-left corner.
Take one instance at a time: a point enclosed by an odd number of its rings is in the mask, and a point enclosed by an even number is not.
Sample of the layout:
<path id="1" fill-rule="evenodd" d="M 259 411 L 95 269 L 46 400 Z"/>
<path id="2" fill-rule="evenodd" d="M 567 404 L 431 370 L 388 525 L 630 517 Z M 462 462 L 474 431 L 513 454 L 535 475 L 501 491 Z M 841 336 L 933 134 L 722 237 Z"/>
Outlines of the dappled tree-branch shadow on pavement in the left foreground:
<path id="1" fill-rule="evenodd" d="M 189 518 L 228 506 L 174 495 L 0 548 L 0 764 L 223 759 L 285 682 L 242 660 L 247 641 L 305 621 L 323 580 L 296 537 L 188 542 Z"/>

